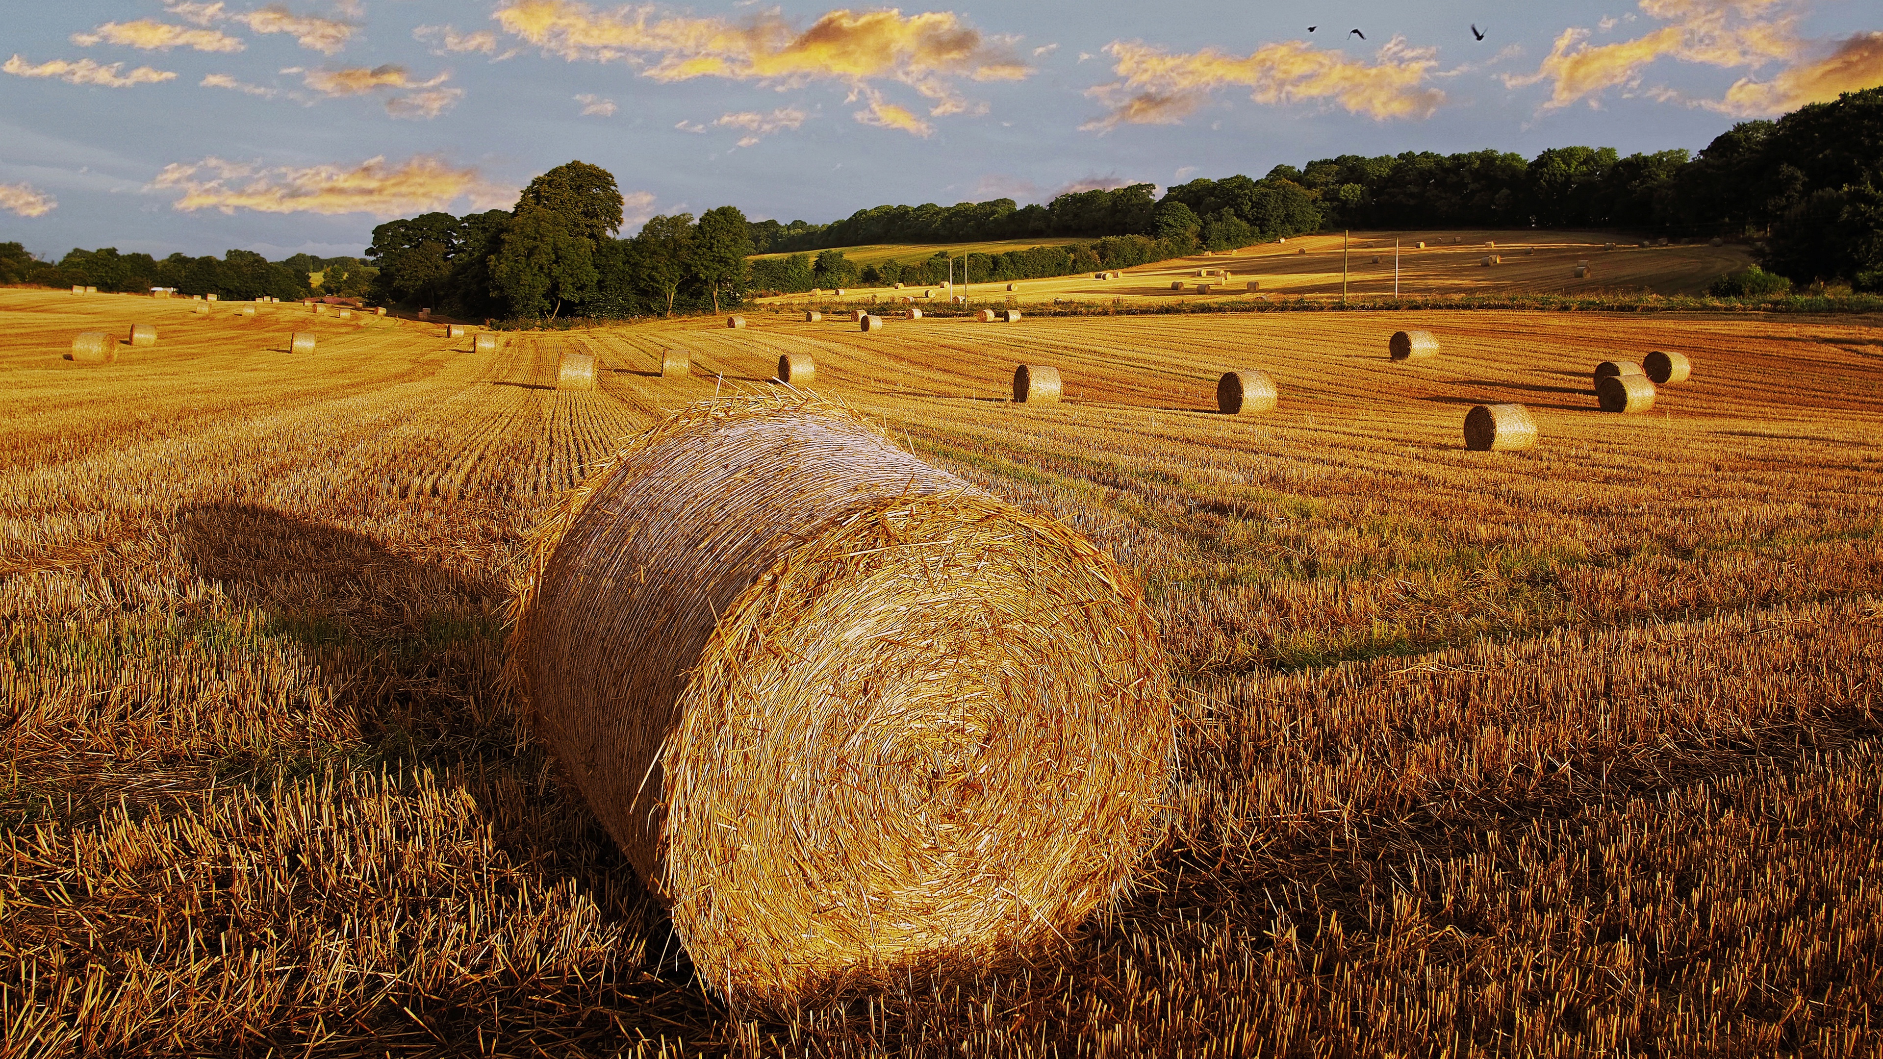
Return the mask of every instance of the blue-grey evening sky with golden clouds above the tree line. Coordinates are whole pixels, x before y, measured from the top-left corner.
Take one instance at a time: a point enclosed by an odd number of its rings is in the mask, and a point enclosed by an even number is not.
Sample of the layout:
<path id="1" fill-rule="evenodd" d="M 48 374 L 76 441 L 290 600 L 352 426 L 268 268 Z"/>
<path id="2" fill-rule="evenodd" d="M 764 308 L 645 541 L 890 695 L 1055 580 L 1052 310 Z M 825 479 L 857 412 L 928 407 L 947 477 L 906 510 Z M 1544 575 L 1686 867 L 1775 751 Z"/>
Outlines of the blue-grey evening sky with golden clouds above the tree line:
<path id="1" fill-rule="evenodd" d="M 0 241 L 53 260 L 358 254 L 574 158 L 616 175 L 623 232 L 827 222 L 1335 155 L 1698 151 L 1883 85 L 1874 0 L 13 8 Z"/>

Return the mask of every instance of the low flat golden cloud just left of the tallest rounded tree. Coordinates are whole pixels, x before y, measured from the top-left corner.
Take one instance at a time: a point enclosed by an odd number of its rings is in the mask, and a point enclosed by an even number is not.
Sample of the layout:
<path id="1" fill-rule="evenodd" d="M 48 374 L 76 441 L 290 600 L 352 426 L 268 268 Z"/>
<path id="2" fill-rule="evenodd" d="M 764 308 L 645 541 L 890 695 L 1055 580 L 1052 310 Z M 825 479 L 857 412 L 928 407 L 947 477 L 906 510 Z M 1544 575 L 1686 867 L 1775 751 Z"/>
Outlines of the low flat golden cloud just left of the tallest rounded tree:
<path id="1" fill-rule="evenodd" d="M 448 209 L 469 198 L 475 209 L 493 209 L 514 202 L 514 188 L 486 181 L 475 168 L 454 170 L 443 158 L 418 155 L 397 166 L 384 156 L 358 166 L 245 166 L 222 158 L 164 166 L 151 181 L 154 188 L 179 188 L 173 209 L 194 213 L 220 209 L 235 213 L 371 213 L 401 217 Z"/>

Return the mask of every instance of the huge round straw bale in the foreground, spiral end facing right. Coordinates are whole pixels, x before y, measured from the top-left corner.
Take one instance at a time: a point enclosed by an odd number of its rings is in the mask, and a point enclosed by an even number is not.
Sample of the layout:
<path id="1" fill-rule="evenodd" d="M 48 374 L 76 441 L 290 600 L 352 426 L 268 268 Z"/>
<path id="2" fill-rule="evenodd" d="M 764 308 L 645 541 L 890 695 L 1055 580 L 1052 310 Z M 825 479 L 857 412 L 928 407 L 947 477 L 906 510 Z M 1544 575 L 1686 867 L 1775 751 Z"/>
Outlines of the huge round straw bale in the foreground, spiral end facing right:
<path id="1" fill-rule="evenodd" d="M 829 405 L 633 441 L 539 530 L 512 620 L 537 737 L 740 1004 L 1054 944 L 1164 808 L 1130 575 Z"/>

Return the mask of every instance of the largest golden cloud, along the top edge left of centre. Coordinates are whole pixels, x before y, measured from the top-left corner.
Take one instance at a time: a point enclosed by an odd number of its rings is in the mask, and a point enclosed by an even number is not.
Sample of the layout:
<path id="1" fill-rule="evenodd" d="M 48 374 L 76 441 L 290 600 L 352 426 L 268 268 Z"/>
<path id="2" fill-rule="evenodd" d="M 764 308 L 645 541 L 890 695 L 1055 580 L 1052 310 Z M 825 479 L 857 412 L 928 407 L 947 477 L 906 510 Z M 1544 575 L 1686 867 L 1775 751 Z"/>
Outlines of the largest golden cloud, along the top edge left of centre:
<path id="1" fill-rule="evenodd" d="M 866 98 L 857 121 L 926 136 L 928 124 L 872 87 L 896 81 L 932 102 L 930 117 L 975 107 L 955 89 L 1032 73 L 1007 38 L 990 38 L 951 11 L 827 11 L 798 30 L 778 13 L 746 21 L 663 15 L 652 6 L 595 11 L 574 0 L 510 0 L 493 15 L 505 32 L 571 62 L 623 60 L 655 81 L 725 77 L 795 87 L 838 81 Z M 872 89 L 864 92 L 864 89 Z"/>

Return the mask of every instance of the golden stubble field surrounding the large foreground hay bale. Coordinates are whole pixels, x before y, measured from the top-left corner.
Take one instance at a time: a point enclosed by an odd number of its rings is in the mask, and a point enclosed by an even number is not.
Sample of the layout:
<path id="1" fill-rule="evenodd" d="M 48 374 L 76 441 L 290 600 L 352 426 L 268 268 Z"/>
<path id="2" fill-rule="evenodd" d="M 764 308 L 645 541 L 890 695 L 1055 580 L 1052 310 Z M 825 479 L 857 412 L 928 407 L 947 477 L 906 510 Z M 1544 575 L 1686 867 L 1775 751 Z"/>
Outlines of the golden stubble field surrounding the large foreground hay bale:
<path id="1" fill-rule="evenodd" d="M 60 360 L 136 320 L 160 345 Z M 748 320 L 478 354 L 0 292 L 0 1053 L 1883 1050 L 1879 320 Z M 1397 328 L 1442 354 L 1390 362 Z M 1653 349 L 1693 379 L 1595 411 L 1595 362 Z M 759 1018 L 557 786 L 499 614 L 586 464 L 780 352 L 1134 571 L 1188 724 L 1128 903 L 1024 969 Z M 1022 362 L 1068 401 L 1009 403 Z M 1215 415 L 1230 367 L 1280 405 Z M 1478 401 L 1538 448 L 1463 450 Z"/>

